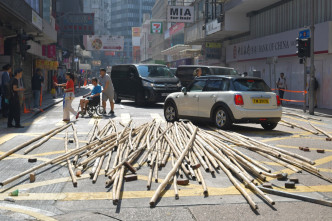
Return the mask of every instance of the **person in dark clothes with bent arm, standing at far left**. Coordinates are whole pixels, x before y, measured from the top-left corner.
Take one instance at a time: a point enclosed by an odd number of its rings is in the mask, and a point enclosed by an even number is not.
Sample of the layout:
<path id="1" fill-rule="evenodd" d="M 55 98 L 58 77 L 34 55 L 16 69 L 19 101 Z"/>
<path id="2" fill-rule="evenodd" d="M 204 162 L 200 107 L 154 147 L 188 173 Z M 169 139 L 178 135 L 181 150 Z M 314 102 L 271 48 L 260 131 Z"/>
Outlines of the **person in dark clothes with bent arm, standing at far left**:
<path id="1" fill-rule="evenodd" d="M 9 89 L 9 114 L 7 127 L 14 127 L 13 120 L 15 120 L 16 128 L 23 128 L 20 123 L 21 107 L 18 92 L 24 91 L 24 88 L 19 88 L 19 81 L 22 78 L 23 70 L 21 68 L 15 70 L 14 77 L 10 80 Z"/>

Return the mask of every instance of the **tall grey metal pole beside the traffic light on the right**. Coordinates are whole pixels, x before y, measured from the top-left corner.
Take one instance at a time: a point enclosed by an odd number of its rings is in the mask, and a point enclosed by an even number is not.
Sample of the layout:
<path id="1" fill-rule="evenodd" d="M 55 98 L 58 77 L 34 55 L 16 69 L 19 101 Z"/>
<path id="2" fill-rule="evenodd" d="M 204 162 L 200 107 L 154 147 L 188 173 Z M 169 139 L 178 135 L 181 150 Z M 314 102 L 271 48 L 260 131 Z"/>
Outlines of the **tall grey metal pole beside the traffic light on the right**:
<path id="1" fill-rule="evenodd" d="M 315 0 L 311 0 L 311 25 L 310 25 L 310 83 L 309 83 L 309 114 L 314 115 L 314 106 L 315 106 Z"/>

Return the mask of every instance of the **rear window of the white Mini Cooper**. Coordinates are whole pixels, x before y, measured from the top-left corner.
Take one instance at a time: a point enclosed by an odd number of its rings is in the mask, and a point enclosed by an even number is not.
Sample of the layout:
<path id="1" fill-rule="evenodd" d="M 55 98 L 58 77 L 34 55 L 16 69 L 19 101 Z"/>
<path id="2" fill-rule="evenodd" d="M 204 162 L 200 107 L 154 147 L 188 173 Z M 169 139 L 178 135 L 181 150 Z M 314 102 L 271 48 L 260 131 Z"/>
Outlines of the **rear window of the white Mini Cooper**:
<path id="1" fill-rule="evenodd" d="M 271 92 L 270 87 L 262 79 L 236 79 L 235 91 L 264 91 Z"/>

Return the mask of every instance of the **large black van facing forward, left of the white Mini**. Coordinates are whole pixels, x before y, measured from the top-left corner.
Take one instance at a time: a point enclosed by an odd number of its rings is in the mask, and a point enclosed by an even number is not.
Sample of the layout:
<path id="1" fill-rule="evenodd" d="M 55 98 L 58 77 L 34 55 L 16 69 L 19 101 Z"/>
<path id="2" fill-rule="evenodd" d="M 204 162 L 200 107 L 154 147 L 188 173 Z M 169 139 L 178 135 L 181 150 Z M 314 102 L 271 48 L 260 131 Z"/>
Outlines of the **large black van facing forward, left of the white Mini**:
<path id="1" fill-rule="evenodd" d="M 138 105 L 164 102 L 170 93 L 181 90 L 179 79 L 165 65 L 114 65 L 111 79 L 115 103 L 122 99 Z"/>

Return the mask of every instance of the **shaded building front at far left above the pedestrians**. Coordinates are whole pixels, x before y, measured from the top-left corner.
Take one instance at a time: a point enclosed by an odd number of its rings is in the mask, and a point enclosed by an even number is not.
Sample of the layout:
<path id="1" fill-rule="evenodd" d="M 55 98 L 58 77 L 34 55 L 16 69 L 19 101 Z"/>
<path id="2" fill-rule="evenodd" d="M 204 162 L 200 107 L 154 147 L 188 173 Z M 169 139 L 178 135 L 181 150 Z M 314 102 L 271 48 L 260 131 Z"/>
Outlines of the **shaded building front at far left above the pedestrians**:
<path id="1" fill-rule="evenodd" d="M 43 70 L 42 90 L 49 91 L 52 74 L 57 69 L 54 3 L 52 0 L 0 1 L 0 68 L 8 63 L 13 71 L 23 68 L 27 106 L 32 97 L 31 79 L 35 70 Z"/>

